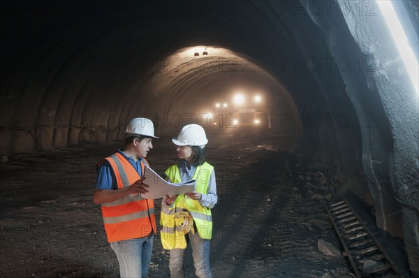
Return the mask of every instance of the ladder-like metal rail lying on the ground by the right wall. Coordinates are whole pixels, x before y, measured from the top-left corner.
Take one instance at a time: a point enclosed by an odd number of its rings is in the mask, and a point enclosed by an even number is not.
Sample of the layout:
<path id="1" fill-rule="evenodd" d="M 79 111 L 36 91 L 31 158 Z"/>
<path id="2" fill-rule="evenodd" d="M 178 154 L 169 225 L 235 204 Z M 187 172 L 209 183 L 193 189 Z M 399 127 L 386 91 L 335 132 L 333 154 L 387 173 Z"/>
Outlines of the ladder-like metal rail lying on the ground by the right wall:
<path id="1" fill-rule="evenodd" d="M 402 277 L 347 200 L 328 203 L 326 209 L 356 277 Z"/>

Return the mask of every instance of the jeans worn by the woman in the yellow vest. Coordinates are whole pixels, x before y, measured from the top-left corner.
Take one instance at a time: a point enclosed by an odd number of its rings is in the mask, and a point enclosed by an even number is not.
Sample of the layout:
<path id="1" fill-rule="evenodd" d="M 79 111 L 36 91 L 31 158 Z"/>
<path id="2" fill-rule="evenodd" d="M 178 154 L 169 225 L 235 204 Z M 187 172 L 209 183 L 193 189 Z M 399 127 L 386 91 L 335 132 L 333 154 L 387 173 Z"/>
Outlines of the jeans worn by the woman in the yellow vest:
<path id="1" fill-rule="evenodd" d="M 198 233 L 192 235 L 188 233 L 189 244 L 192 247 L 193 266 L 195 266 L 195 275 L 200 278 L 212 278 L 210 268 L 210 243 L 211 240 L 203 240 Z M 184 257 L 186 249 L 170 250 L 170 278 L 184 277 Z"/>

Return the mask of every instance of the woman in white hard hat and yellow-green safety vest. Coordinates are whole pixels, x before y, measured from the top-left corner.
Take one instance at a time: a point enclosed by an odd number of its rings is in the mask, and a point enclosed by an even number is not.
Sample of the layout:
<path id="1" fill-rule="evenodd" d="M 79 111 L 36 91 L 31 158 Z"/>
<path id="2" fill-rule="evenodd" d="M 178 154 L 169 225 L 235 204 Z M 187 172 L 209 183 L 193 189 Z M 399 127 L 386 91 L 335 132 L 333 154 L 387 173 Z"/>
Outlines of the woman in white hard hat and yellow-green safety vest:
<path id="1" fill-rule="evenodd" d="M 170 182 L 196 180 L 196 191 L 177 196 L 166 195 L 161 205 L 161 242 L 170 250 L 170 277 L 184 277 L 184 255 L 192 248 L 195 274 L 212 277 L 210 240 L 211 209 L 217 202 L 214 167 L 205 162 L 207 136 L 202 126 L 184 126 L 172 142 L 177 145 L 179 163 L 166 170 Z"/>

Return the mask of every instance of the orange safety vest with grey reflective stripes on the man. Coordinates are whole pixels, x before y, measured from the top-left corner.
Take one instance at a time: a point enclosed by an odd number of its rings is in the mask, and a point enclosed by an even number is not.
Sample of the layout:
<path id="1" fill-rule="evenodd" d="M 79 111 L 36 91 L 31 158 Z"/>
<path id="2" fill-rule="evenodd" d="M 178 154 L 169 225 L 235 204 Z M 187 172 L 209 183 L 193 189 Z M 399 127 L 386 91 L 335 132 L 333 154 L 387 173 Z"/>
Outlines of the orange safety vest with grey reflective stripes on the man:
<path id="1" fill-rule="evenodd" d="M 106 160 L 115 173 L 118 189 L 140 180 L 137 170 L 122 154 L 112 154 Z M 140 163 L 142 173 L 145 168 L 144 162 L 147 163 L 145 159 Z M 103 203 L 102 217 L 108 242 L 145 237 L 151 231 L 156 233 L 154 200 L 142 198 L 138 194 L 130 194 L 111 203 Z"/>

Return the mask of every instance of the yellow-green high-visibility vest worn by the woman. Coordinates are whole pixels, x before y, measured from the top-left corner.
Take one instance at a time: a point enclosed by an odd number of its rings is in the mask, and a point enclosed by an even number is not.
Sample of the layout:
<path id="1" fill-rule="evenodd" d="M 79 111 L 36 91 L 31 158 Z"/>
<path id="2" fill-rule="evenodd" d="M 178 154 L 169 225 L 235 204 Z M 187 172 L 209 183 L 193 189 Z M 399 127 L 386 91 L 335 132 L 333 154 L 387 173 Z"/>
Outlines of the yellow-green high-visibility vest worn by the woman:
<path id="1" fill-rule="evenodd" d="M 206 194 L 208 192 L 208 183 L 214 167 L 210 163 L 203 163 L 198 166 L 193 173 L 193 180 L 196 180 L 196 191 Z M 177 164 L 172 165 L 166 170 L 170 182 L 179 183 L 180 172 Z M 199 200 L 192 200 L 188 196 L 182 194 L 177 196 L 173 207 L 168 207 L 166 210 L 161 209 L 161 243 L 163 249 L 185 249 L 186 239 L 184 233 L 181 231 L 182 218 L 174 218 L 173 214 L 181 210 L 188 210 L 193 217 L 193 222 L 196 224 L 199 237 L 210 240 L 212 237 L 212 216 L 211 210 L 208 207 L 203 207 Z"/>

